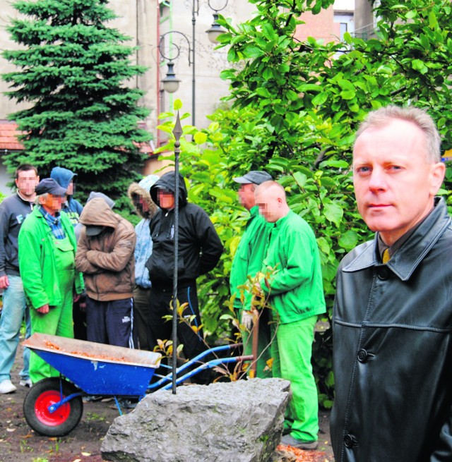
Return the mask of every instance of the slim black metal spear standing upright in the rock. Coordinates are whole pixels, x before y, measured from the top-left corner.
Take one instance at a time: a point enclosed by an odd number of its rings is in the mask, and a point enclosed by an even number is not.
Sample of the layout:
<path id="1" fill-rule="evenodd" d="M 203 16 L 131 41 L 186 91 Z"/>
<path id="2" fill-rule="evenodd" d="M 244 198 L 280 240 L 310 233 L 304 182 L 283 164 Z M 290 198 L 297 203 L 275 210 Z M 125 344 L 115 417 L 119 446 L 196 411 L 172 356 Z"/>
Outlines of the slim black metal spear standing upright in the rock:
<path id="1" fill-rule="evenodd" d="M 179 139 L 182 135 L 181 119 L 177 111 L 174 125 L 174 271 L 172 274 L 172 394 L 176 394 L 177 375 L 177 260 L 179 255 Z"/>

